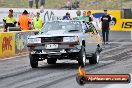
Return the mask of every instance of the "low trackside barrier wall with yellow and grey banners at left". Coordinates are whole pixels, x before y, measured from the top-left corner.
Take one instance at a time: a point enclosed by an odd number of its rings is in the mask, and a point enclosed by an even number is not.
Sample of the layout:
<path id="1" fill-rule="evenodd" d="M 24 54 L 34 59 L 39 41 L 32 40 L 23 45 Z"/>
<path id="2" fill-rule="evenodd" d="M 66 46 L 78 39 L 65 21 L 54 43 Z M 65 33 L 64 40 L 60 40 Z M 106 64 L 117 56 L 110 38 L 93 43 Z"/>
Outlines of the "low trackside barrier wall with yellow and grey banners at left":
<path id="1" fill-rule="evenodd" d="M 27 52 L 28 36 L 35 35 L 38 31 L 1 32 L 0 33 L 0 58 L 12 57 Z"/>

